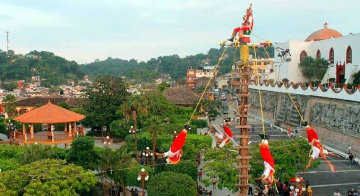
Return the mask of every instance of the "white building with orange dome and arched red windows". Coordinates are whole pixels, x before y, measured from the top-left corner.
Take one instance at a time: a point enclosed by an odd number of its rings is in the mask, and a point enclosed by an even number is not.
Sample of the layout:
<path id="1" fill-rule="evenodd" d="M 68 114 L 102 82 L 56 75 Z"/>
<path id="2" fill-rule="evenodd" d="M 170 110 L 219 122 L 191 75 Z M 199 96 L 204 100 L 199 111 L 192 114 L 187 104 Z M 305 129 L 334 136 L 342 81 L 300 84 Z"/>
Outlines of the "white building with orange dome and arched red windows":
<path id="1" fill-rule="evenodd" d="M 287 49 L 289 53 L 286 52 Z M 345 83 L 352 83 L 351 75 L 360 70 L 360 58 L 356 54 L 360 54 L 360 34 L 343 36 L 328 28 L 325 23 L 323 29 L 310 34 L 305 41 L 288 40 L 275 44 L 274 69 L 279 74 L 273 72 L 268 79 L 287 78 L 294 83 L 308 82 L 309 79 L 302 75 L 298 65 L 304 57 L 311 56 L 330 62 L 321 83 L 327 83 L 329 78 L 335 78 L 337 83 L 342 79 L 346 79 Z"/>

